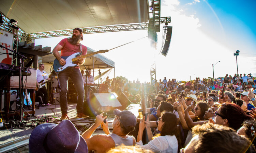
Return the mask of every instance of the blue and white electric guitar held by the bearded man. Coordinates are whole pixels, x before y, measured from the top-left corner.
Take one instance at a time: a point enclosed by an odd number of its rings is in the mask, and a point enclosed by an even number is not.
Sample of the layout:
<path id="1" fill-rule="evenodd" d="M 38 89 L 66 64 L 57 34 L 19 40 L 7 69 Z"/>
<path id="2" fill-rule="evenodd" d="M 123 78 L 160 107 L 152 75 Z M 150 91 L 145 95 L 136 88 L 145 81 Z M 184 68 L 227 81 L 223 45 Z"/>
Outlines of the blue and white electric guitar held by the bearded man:
<path id="1" fill-rule="evenodd" d="M 92 56 L 94 54 L 105 53 L 105 52 L 108 52 L 108 50 L 100 50 L 100 51 L 93 52 L 93 53 L 90 53 L 90 54 L 82 55 L 81 57 L 85 58 L 85 57 L 88 57 L 88 56 Z M 63 65 L 63 66 L 60 65 L 60 63 L 57 59 L 55 59 L 54 62 L 53 62 L 53 65 L 54 65 L 53 67 L 54 67 L 55 72 L 61 72 L 61 71 L 65 70 L 68 67 L 77 67 L 78 65 L 75 64 L 74 62 L 77 61 L 79 55 L 80 55 L 80 53 L 77 52 L 77 53 L 74 53 L 70 56 L 61 56 L 61 58 L 63 58 L 66 61 L 66 64 Z"/>

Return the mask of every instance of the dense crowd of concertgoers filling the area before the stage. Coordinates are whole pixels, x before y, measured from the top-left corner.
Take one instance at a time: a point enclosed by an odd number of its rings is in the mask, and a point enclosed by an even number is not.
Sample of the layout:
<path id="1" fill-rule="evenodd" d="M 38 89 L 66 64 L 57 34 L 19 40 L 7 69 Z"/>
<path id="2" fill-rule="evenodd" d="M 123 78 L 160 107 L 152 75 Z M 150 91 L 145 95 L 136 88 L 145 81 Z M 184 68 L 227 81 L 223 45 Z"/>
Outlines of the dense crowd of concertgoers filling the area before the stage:
<path id="1" fill-rule="evenodd" d="M 255 82 L 251 74 L 188 82 L 164 78 L 154 95 L 150 83 L 107 78 L 113 92 L 124 92 L 141 104 L 143 118 L 115 109 L 112 132 L 102 113 L 81 136 L 69 120 L 41 124 L 31 133 L 29 149 L 35 152 L 41 145 L 45 152 L 256 152 Z M 99 126 L 105 134 L 93 134 Z"/>

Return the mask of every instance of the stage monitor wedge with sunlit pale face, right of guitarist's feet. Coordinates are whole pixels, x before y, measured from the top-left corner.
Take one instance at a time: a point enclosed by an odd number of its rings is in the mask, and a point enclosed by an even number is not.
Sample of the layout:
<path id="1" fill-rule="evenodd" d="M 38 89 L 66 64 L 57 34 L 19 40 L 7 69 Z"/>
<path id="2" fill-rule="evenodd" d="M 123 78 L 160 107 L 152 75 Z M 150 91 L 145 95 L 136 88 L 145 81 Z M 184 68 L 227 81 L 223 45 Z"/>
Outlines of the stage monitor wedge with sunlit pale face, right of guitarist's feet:
<path id="1" fill-rule="evenodd" d="M 84 102 L 84 114 L 97 116 L 98 114 L 112 113 L 115 108 L 122 107 L 115 93 L 91 93 Z"/>

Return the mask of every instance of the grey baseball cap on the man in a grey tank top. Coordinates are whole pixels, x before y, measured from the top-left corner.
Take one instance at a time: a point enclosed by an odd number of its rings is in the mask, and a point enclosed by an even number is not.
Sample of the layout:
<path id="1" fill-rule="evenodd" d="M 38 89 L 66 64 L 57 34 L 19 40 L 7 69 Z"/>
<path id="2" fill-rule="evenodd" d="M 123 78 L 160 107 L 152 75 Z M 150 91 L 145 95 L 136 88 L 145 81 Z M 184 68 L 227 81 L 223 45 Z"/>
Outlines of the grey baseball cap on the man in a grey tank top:
<path id="1" fill-rule="evenodd" d="M 114 114 L 118 116 L 119 121 L 124 126 L 124 128 L 127 130 L 129 126 L 135 126 L 136 125 L 136 117 L 135 115 L 130 111 L 120 111 L 119 109 L 114 109 Z"/>

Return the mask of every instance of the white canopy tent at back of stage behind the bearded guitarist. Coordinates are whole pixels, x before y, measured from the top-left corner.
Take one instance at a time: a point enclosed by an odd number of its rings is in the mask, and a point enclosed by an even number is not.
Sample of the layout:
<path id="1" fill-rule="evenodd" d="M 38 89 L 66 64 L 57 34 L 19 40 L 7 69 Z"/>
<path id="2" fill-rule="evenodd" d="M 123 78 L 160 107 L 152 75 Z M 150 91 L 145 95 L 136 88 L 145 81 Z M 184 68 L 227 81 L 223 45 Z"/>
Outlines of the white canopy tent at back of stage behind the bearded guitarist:
<path id="1" fill-rule="evenodd" d="M 92 52 L 96 52 L 96 51 L 87 47 L 87 54 L 90 54 Z M 59 51 L 59 53 L 60 53 L 60 51 Z M 44 63 L 45 71 L 48 74 L 50 73 L 50 70 L 52 69 L 54 60 L 55 60 L 55 57 L 53 54 L 45 55 L 42 57 L 42 63 Z M 104 75 L 108 75 L 110 73 L 110 71 L 114 68 L 114 77 L 115 77 L 115 62 L 111 61 L 109 58 L 105 57 L 103 54 L 95 54 L 90 57 L 86 57 L 84 64 L 87 69 L 88 68 L 92 69 L 93 76 L 94 76 L 95 69 L 101 69 L 102 77 L 103 77 Z M 85 69 L 84 65 L 80 65 L 80 69 L 81 70 Z M 99 76 L 94 77 L 94 81 L 96 81 L 97 79 L 99 79 Z"/>

